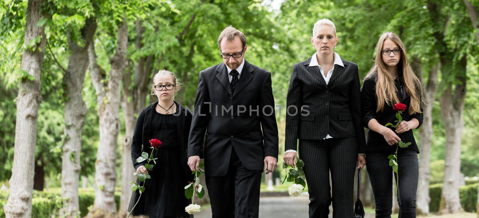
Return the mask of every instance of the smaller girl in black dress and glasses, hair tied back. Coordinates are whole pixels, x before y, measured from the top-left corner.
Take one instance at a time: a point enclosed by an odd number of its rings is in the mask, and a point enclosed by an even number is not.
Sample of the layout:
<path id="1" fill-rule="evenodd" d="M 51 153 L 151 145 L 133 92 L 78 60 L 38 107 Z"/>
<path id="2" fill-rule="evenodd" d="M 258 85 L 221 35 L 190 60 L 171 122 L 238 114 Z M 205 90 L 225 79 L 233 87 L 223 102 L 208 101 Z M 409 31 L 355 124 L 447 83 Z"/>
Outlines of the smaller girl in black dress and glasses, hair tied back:
<path id="1" fill-rule="evenodd" d="M 138 115 L 131 143 L 131 157 L 137 173 L 149 174 L 145 180 L 145 191 L 134 208 L 132 215 L 146 215 L 150 218 L 193 218 L 185 212 L 189 205 L 184 196 L 184 186 L 192 181 L 192 172 L 186 165 L 186 149 L 190 132 L 192 114 L 181 104 L 174 101 L 174 95 L 180 88 L 177 77 L 160 70 L 153 77 L 151 94 L 159 101 L 150 104 Z M 137 163 L 142 152 L 151 153 L 149 140 L 162 142 L 159 149 L 153 151 L 156 164 L 149 172 L 144 162 Z M 153 163 L 152 163 L 153 164 Z M 138 184 L 143 183 L 137 181 Z M 128 212 L 137 203 L 140 193 L 133 192 Z"/>

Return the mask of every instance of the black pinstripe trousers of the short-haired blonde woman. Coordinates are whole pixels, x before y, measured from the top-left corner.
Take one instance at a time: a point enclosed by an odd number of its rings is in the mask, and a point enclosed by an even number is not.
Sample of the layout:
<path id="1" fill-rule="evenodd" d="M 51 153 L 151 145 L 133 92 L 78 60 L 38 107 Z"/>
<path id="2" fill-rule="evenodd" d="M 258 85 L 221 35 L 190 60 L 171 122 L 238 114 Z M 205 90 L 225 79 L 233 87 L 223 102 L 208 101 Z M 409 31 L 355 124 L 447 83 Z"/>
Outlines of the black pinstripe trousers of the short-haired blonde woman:
<path id="1" fill-rule="evenodd" d="M 305 163 L 309 218 L 328 218 L 331 201 L 333 218 L 354 217 L 356 138 L 299 140 L 299 158 Z"/>

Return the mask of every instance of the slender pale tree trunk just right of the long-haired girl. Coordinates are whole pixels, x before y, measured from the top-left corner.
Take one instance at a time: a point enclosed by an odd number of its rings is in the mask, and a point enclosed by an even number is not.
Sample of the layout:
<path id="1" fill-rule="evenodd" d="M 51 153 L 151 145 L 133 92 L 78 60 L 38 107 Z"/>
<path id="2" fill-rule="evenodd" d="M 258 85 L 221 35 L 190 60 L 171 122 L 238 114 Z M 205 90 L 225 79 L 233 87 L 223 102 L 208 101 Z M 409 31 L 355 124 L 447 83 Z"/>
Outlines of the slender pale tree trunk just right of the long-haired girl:
<path id="1" fill-rule="evenodd" d="M 416 212 L 418 214 L 429 214 L 429 179 L 431 177 L 431 169 L 429 162 L 431 160 L 431 142 L 433 138 L 433 107 L 435 101 L 436 87 L 437 87 L 437 74 L 438 64 L 429 72 L 427 84 L 424 83 L 422 74 L 420 79 L 422 87 L 424 88 L 423 98 L 423 120 L 420 129 L 420 141 L 419 146 L 421 153 L 419 154 L 419 182 L 416 196 Z"/>

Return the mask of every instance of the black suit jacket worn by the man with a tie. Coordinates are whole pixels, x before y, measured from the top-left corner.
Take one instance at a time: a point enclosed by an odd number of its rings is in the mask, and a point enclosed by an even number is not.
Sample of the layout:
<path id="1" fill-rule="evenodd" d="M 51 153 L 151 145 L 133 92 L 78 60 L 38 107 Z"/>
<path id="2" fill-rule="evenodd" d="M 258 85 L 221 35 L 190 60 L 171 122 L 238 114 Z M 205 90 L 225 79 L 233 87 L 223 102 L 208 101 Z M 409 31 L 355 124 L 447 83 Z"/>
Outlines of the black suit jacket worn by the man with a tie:
<path id="1" fill-rule="evenodd" d="M 228 172 L 233 147 L 249 170 L 263 170 L 265 156 L 278 158 L 271 74 L 244 61 L 234 94 L 223 63 L 201 71 L 198 77 L 188 156 L 205 159 L 207 176 Z"/>

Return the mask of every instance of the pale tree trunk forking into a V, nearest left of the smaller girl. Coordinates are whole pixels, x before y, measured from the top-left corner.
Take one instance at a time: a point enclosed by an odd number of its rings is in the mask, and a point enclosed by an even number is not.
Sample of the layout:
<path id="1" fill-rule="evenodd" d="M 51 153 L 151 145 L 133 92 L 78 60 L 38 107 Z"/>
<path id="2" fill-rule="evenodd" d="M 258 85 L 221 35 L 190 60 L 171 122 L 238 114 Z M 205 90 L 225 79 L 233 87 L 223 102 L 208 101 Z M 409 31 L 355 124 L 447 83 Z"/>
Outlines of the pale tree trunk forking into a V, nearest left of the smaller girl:
<path id="1" fill-rule="evenodd" d="M 98 116 L 100 119 L 100 143 L 95 163 L 95 202 L 90 210 L 89 217 L 114 217 L 116 214 L 116 203 L 114 201 L 116 140 L 120 130 L 120 88 L 127 63 L 127 45 L 128 29 L 126 18 L 124 18 L 122 26 L 118 28 L 116 53 L 110 60 L 111 71 L 108 87 L 104 87 L 103 83 L 98 80 L 101 78 L 102 69 L 96 62 L 94 45 L 91 44 L 89 48 L 91 78 L 97 92 L 97 100 L 99 100 Z"/>

